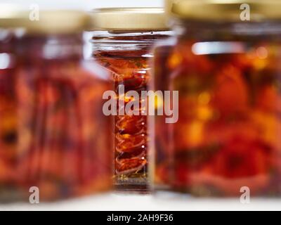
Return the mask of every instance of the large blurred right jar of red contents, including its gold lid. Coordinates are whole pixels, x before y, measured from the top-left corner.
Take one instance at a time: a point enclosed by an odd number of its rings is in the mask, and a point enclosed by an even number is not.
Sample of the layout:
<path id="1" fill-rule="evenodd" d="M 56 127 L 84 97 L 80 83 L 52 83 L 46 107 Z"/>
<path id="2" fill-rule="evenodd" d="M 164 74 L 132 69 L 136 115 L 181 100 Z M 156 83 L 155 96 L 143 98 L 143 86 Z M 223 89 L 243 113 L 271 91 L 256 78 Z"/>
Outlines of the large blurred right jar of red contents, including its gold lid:
<path id="1" fill-rule="evenodd" d="M 179 120 L 156 117 L 158 188 L 281 193 L 281 4 L 247 3 L 169 1 L 176 39 L 156 46 L 152 85 L 179 91 Z"/>

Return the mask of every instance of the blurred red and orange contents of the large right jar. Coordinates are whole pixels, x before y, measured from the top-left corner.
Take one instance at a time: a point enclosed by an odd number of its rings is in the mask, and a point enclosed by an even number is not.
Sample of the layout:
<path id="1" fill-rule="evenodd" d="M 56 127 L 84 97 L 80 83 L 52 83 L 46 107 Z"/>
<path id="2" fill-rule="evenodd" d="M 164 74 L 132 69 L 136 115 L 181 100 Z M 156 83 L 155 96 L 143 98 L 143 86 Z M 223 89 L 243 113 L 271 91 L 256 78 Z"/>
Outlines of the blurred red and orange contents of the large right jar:
<path id="1" fill-rule="evenodd" d="M 221 53 L 200 52 L 214 45 Z M 280 194 L 280 46 L 183 38 L 156 49 L 155 86 L 179 91 L 178 122 L 156 120 L 158 184 L 195 195 L 240 195 L 243 186 Z"/>

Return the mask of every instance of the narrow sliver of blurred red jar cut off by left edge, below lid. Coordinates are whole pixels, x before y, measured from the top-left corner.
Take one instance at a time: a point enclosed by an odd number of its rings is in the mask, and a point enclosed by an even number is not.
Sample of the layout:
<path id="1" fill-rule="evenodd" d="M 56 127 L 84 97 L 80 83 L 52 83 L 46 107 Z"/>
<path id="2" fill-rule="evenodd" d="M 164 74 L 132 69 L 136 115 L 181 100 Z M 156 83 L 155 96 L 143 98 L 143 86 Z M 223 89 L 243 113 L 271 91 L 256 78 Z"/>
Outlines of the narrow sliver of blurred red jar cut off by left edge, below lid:
<path id="1" fill-rule="evenodd" d="M 0 28 L 0 192 L 13 182 L 17 144 L 15 55 L 13 33 Z"/>

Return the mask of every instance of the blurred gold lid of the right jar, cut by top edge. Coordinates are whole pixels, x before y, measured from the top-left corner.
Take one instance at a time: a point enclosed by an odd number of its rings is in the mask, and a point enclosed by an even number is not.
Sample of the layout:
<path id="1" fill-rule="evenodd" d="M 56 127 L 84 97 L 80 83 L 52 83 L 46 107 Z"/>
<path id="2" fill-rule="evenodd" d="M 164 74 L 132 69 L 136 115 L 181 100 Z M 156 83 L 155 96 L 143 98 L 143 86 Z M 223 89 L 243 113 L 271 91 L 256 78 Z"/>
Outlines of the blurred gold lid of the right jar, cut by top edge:
<path id="1" fill-rule="evenodd" d="M 280 0 L 166 0 L 165 8 L 177 18 L 241 21 L 245 6 L 249 6 L 250 21 L 281 19 Z"/>

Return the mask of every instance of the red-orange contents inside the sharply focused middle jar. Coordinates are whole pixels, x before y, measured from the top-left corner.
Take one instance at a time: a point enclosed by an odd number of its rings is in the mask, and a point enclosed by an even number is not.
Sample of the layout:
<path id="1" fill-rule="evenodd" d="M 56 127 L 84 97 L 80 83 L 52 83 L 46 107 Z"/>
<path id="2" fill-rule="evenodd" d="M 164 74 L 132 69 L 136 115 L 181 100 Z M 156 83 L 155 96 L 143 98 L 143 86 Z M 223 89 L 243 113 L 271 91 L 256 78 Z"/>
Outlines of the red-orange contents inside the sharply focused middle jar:
<path id="1" fill-rule="evenodd" d="M 119 96 L 120 85 L 127 91 L 147 89 L 150 71 L 145 51 L 97 51 L 94 56 L 111 72 L 114 90 Z M 124 106 L 133 99 L 124 98 Z M 141 101 L 141 100 L 140 100 Z M 119 104 L 117 104 L 117 111 Z M 147 177 L 147 117 L 145 115 L 115 116 L 115 174 L 146 179 Z"/>

